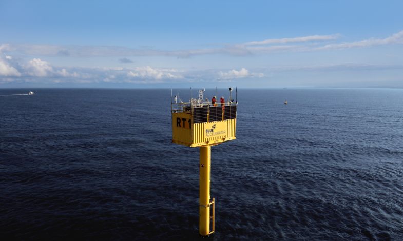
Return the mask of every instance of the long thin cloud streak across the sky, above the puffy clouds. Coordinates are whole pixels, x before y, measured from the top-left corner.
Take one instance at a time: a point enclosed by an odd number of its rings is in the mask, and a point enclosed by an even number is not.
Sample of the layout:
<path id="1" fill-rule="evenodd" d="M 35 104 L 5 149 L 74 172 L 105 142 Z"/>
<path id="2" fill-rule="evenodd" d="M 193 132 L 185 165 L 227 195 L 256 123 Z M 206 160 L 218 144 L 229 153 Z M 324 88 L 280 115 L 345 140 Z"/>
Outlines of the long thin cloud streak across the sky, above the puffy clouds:
<path id="1" fill-rule="evenodd" d="M 272 52 L 318 51 L 325 49 L 345 49 L 371 47 L 376 45 L 403 44 L 403 31 L 386 38 L 369 38 L 361 41 L 327 44 L 323 42 L 338 41 L 340 34 L 310 35 L 292 38 L 271 38 L 263 41 L 251 41 L 217 48 L 156 50 L 132 49 L 120 46 L 56 46 L 56 45 L 0 45 L 0 51 L 17 52 L 31 56 L 63 56 L 63 57 L 121 57 L 120 61 L 128 63 L 132 56 L 173 56 L 186 58 L 198 55 L 225 54 L 246 56 L 251 54 L 267 54 Z M 313 43 L 314 42 L 314 43 Z M 276 45 L 274 45 L 276 44 Z M 315 44 L 315 45 L 314 45 Z"/>

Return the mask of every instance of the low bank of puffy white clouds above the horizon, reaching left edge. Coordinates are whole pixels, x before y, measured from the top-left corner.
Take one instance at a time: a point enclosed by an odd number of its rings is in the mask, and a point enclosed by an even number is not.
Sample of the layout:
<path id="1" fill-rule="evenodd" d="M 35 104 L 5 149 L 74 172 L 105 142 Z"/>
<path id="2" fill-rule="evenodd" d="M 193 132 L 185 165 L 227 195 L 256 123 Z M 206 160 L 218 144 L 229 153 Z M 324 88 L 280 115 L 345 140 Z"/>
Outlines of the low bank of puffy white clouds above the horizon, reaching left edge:
<path id="1" fill-rule="evenodd" d="M 9 55 L 7 55 L 9 56 Z M 21 61 L 21 59 L 20 59 Z M 41 59 L 33 58 L 20 63 L 0 55 L 0 82 L 35 82 L 35 83 L 97 83 L 101 80 L 110 83 L 164 83 L 164 82 L 194 82 L 206 78 L 216 81 L 231 80 L 263 74 L 250 73 L 245 68 L 220 71 L 217 70 L 177 70 L 168 68 L 152 68 L 150 66 L 137 68 L 123 67 L 57 67 Z"/>

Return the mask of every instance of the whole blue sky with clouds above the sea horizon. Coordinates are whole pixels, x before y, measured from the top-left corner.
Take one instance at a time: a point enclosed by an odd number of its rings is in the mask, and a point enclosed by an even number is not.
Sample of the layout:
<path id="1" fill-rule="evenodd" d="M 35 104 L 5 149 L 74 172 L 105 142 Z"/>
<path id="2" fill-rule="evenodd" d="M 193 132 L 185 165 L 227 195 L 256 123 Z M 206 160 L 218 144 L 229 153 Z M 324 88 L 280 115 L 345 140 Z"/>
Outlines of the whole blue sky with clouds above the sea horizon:
<path id="1" fill-rule="evenodd" d="M 0 88 L 403 87 L 401 1 L 0 1 Z"/>

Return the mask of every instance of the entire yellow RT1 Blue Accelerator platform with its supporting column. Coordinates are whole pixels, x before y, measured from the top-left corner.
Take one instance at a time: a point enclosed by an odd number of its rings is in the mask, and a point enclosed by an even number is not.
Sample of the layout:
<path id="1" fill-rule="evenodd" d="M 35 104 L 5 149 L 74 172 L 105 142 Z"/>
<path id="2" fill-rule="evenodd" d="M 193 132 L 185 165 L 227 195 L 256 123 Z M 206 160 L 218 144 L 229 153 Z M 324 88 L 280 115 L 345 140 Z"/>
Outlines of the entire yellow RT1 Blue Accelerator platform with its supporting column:
<path id="1" fill-rule="evenodd" d="M 199 234 L 201 236 L 208 236 L 214 233 L 215 229 L 215 199 L 210 195 L 210 147 L 236 139 L 238 102 L 233 101 L 232 90 L 229 88 L 227 102 L 220 102 L 217 99 L 216 103 L 212 103 L 208 98 L 204 100 L 204 90 L 199 90 L 198 98 L 191 98 L 189 102 L 182 102 L 179 94 L 173 98 L 171 96 L 172 142 L 188 147 L 200 147 Z"/>

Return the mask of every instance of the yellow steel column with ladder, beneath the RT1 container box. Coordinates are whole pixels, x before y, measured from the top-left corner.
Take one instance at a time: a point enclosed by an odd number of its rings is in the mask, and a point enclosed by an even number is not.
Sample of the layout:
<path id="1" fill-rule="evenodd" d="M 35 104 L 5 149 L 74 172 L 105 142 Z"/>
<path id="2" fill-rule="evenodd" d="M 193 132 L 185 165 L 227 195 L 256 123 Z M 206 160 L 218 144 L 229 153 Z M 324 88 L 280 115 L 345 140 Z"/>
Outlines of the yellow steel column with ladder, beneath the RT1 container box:
<path id="1" fill-rule="evenodd" d="M 199 234 L 210 233 L 210 146 L 200 147 Z"/>

